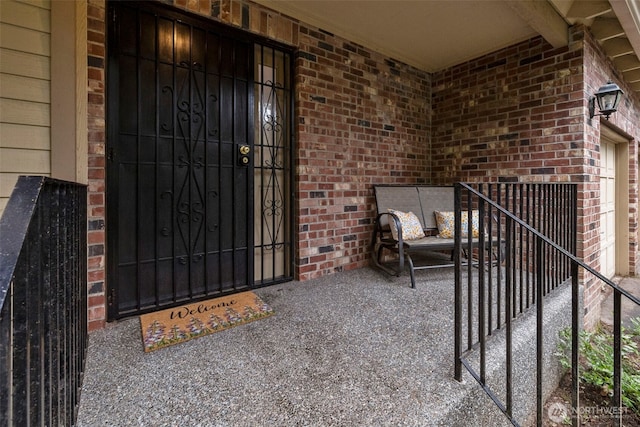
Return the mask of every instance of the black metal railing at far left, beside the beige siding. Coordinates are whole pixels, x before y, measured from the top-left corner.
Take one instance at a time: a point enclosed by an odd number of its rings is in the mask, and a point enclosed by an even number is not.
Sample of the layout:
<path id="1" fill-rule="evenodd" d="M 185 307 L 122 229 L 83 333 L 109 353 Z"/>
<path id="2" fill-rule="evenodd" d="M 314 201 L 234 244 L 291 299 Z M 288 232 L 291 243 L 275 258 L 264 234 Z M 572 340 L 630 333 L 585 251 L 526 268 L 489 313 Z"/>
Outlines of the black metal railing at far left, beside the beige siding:
<path id="1" fill-rule="evenodd" d="M 73 425 L 87 348 L 83 185 L 20 177 L 0 218 L 0 425 Z"/>

